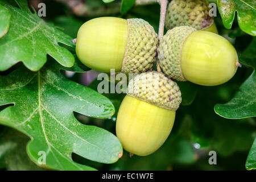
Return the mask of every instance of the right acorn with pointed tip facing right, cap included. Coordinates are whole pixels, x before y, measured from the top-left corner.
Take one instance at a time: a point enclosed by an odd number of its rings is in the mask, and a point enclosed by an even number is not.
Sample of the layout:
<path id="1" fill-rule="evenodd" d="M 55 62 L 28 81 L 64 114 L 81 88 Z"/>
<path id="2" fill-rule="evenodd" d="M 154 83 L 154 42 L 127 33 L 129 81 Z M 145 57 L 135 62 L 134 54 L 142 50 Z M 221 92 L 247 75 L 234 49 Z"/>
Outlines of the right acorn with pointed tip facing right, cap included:
<path id="1" fill-rule="evenodd" d="M 175 27 L 159 41 L 160 68 L 177 81 L 220 85 L 230 80 L 241 66 L 233 45 L 212 32 Z"/>

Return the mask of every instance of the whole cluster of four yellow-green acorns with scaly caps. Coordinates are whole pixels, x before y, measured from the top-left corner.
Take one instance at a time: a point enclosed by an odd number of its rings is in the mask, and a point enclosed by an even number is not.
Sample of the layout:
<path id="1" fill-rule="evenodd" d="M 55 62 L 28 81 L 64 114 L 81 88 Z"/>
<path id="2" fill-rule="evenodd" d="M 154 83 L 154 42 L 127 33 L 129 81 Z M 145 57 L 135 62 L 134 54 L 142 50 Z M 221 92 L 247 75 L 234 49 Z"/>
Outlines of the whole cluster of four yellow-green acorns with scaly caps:
<path id="1" fill-rule="evenodd" d="M 172 0 L 166 35 L 160 40 L 143 19 L 96 18 L 77 34 L 76 53 L 102 72 L 138 73 L 118 111 L 116 133 L 123 148 L 145 156 L 158 150 L 172 130 L 181 103 L 176 82 L 219 85 L 237 71 L 236 49 L 217 34 L 206 0 Z M 162 72 L 150 71 L 158 58 Z"/>

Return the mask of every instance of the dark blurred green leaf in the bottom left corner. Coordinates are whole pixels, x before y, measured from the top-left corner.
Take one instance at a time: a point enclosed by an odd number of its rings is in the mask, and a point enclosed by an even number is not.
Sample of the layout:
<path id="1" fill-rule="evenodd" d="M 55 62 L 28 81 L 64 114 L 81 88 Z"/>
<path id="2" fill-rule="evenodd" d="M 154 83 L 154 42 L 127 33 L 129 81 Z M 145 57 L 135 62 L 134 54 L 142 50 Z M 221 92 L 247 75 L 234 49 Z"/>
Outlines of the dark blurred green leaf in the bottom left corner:
<path id="1" fill-rule="evenodd" d="M 9 171 L 43 170 L 28 158 L 26 152 L 28 140 L 26 135 L 6 127 L 0 138 L 0 168 Z"/>

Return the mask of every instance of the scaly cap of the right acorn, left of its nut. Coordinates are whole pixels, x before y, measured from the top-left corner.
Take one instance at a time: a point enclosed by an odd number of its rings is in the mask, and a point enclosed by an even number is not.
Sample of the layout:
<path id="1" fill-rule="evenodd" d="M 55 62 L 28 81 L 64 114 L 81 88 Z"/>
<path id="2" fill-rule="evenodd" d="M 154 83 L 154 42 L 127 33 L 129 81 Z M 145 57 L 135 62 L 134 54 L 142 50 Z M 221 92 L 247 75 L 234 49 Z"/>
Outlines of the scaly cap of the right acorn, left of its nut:
<path id="1" fill-rule="evenodd" d="M 180 67 L 181 52 L 187 37 L 195 28 L 181 26 L 168 30 L 160 39 L 158 47 L 159 65 L 164 74 L 177 81 L 186 81 Z"/>

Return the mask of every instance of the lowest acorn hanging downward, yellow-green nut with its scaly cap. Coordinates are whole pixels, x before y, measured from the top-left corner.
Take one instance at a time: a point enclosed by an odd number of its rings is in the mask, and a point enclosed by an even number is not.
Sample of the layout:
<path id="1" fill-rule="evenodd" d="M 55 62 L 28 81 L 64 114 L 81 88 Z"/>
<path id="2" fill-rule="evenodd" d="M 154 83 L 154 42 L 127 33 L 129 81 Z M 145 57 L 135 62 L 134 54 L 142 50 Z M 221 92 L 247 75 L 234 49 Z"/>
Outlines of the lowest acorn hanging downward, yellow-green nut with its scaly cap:
<path id="1" fill-rule="evenodd" d="M 126 93 L 117 115 L 117 138 L 131 154 L 150 155 L 172 130 L 181 102 L 179 86 L 151 71 L 133 77 Z"/>

